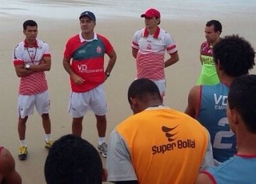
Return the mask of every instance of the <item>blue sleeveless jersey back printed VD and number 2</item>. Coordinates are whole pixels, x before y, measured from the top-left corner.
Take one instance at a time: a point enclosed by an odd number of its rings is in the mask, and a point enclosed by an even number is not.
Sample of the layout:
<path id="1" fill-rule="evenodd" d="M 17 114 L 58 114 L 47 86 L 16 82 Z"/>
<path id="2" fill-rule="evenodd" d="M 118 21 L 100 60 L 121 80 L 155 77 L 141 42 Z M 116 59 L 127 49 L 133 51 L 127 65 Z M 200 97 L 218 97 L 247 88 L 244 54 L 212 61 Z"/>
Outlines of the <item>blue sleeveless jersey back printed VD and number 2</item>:
<path id="1" fill-rule="evenodd" d="M 219 83 L 201 86 L 198 122 L 210 132 L 214 159 L 224 162 L 236 152 L 236 138 L 226 117 L 229 86 Z"/>

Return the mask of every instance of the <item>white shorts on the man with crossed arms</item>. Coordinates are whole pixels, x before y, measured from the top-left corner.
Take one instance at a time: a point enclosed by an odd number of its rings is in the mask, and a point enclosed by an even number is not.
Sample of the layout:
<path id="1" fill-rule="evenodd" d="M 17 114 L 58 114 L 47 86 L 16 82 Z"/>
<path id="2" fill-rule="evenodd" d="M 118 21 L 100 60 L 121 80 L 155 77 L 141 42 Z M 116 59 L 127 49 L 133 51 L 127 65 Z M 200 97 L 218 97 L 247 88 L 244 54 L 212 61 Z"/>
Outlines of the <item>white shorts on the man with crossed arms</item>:
<path id="1" fill-rule="evenodd" d="M 18 114 L 21 118 L 33 114 L 34 106 L 40 115 L 49 113 L 50 98 L 47 90 L 42 94 L 18 95 Z"/>

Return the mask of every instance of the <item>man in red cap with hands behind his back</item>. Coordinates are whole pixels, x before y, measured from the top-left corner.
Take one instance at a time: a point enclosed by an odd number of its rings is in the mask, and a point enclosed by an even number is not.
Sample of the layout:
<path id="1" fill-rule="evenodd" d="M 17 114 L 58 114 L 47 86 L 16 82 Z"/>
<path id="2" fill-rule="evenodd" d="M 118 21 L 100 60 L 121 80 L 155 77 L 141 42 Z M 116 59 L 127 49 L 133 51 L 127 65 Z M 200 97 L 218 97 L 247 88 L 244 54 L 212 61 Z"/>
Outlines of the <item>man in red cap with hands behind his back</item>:
<path id="1" fill-rule="evenodd" d="M 131 44 L 132 54 L 136 58 L 137 78 L 149 78 L 154 81 L 162 97 L 166 93 L 164 69 L 178 62 L 178 50 L 170 34 L 162 30 L 160 12 L 151 8 L 141 15 L 145 18 L 145 28 L 137 30 Z M 170 58 L 164 61 L 165 51 Z"/>

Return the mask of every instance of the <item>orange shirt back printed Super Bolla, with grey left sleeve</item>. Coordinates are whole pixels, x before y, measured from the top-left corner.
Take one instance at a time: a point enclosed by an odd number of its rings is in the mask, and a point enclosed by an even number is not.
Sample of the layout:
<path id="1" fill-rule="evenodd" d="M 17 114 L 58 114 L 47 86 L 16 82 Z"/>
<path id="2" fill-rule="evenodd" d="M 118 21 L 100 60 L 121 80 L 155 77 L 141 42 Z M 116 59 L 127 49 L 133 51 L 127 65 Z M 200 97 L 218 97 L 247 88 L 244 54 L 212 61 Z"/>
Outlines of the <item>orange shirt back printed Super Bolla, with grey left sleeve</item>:
<path id="1" fill-rule="evenodd" d="M 117 181 L 117 176 L 136 180 L 137 175 L 142 184 L 194 183 L 209 141 L 206 129 L 196 120 L 162 106 L 127 118 L 112 134 L 116 135 L 112 135 L 109 150 L 115 150 L 107 158 L 108 180 Z M 114 142 L 122 146 L 113 148 Z M 131 163 L 118 166 L 120 161 L 111 162 L 116 154 L 124 162 L 130 158 Z"/>

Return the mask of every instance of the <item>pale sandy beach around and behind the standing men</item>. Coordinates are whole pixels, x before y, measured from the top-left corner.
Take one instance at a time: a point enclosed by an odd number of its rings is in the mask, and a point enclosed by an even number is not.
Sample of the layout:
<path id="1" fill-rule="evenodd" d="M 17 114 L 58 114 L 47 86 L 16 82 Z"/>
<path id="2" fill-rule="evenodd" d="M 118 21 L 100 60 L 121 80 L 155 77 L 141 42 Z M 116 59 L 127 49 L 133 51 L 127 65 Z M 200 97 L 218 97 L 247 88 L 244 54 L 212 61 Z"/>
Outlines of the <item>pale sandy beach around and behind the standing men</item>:
<path id="1" fill-rule="evenodd" d="M 96 14 L 97 17 L 97 14 Z M 44 133 L 41 118 L 36 110 L 27 122 L 26 140 L 28 144 L 28 159 L 18 160 L 18 132 L 17 132 L 17 96 L 19 78 L 16 76 L 12 62 L 12 50 L 18 42 L 24 39 L 22 23 L 26 19 L 38 22 L 38 38 L 50 45 L 52 66 L 46 72 L 50 90 L 52 122 L 52 136 L 54 139 L 71 132 L 71 118 L 67 113 L 70 95 L 69 76 L 62 67 L 62 53 L 67 38 L 80 31 L 77 19 L 50 19 L 27 16 L 0 17 L 0 84 L 2 86 L 0 104 L 0 145 L 5 146 L 13 154 L 18 172 L 23 183 L 44 184 L 44 162 L 47 150 L 44 148 Z M 245 37 L 256 48 L 255 16 L 249 18 L 226 17 L 218 18 L 223 25 L 222 36 L 239 34 Z M 201 63 L 199 62 L 199 46 L 205 40 L 204 26 L 208 19 L 200 20 L 170 20 L 162 16 L 160 26 L 170 32 L 178 46 L 180 61 L 174 66 L 166 68 L 166 97 L 164 103 L 174 109 L 184 111 L 187 95 L 194 86 Z M 135 78 L 135 62 L 131 55 L 130 42 L 134 31 L 142 28 L 142 18 L 98 18 L 95 31 L 105 35 L 113 44 L 118 59 L 110 78 L 105 83 L 108 102 L 107 134 L 119 122 L 132 114 L 128 105 L 126 93 L 130 82 Z M 250 72 L 256 74 L 256 69 Z M 86 114 L 83 121 L 82 137 L 97 146 L 97 130 L 94 114 Z M 102 162 L 105 165 L 105 158 Z"/>

